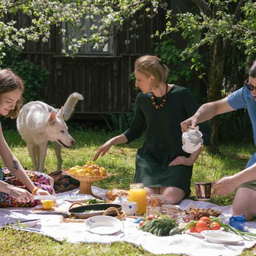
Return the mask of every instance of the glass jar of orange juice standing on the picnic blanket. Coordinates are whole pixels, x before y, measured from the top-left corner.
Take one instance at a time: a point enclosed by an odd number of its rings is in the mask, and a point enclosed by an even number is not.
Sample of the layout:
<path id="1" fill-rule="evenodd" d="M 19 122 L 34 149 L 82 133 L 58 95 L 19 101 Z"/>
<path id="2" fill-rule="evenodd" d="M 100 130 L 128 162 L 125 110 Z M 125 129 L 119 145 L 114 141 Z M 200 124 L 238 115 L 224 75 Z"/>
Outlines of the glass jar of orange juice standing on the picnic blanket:
<path id="1" fill-rule="evenodd" d="M 137 213 L 146 213 L 147 198 L 143 183 L 130 184 L 129 201 L 137 203 Z"/>

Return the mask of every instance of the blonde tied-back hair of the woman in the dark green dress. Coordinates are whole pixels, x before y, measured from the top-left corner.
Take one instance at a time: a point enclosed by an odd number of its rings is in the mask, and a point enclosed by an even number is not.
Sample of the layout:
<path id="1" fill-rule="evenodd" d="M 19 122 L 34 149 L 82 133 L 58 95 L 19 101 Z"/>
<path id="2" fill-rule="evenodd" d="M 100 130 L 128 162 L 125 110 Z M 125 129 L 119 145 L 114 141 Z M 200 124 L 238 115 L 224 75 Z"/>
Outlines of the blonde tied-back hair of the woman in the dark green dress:
<path id="1" fill-rule="evenodd" d="M 165 82 L 169 73 L 169 69 L 161 59 L 153 55 L 144 55 L 136 59 L 134 68 L 146 77 L 154 76 L 153 88 L 158 88 L 160 83 Z"/>

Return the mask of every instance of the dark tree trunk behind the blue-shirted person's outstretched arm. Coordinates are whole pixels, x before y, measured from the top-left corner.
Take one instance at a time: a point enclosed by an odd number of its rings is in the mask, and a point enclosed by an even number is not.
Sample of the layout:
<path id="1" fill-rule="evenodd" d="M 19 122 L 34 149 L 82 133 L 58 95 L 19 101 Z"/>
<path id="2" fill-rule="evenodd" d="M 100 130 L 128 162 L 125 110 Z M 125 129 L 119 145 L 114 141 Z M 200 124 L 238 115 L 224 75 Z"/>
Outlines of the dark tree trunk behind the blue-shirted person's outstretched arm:
<path id="1" fill-rule="evenodd" d="M 212 58 L 208 76 L 208 102 L 221 99 L 221 88 L 223 82 L 224 55 L 223 55 L 223 38 L 219 37 L 212 47 Z M 215 152 L 218 147 L 219 139 L 219 116 L 214 117 L 211 121 L 212 135 L 209 146 L 210 152 Z"/>

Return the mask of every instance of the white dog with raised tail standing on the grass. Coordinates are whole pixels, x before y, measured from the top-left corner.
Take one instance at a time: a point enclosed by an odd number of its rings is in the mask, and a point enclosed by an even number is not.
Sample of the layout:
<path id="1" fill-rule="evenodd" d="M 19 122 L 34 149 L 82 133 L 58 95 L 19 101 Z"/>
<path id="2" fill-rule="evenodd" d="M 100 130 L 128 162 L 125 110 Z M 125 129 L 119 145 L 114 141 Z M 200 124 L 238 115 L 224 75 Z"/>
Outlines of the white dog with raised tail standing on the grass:
<path id="1" fill-rule="evenodd" d="M 33 169 L 42 171 L 50 140 L 57 156 L 57 171 L 61 170 L 61 148 L 69 148 L 75 140 L 69 135 L 66 123 L 74 111 L 77 101 L 83 100 L 77 92 L 69 95 L 64 107 L 54 109 L 42 101 L 31 101 L 21 108 L 17 118 L 17 129 L 27 143 Z"/>

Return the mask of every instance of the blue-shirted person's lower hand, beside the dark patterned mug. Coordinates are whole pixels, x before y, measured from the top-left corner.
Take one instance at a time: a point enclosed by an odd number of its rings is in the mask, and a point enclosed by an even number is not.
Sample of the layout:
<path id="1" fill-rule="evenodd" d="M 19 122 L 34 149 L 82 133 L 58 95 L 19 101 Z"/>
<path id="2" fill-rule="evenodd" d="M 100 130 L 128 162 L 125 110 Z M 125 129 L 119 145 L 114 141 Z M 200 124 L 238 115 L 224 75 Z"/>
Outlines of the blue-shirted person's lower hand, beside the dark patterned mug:
<path id="1" fill-rule="evenodd" d="M 212 196 L 225 196 L 234 191 L 238 185 L 239 184 L 236 183 L 234 176 L 223 177 L 212 184 L 212 188 L 214 189 Z"/>

